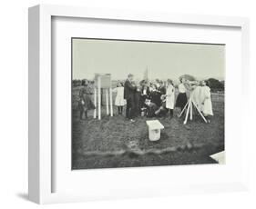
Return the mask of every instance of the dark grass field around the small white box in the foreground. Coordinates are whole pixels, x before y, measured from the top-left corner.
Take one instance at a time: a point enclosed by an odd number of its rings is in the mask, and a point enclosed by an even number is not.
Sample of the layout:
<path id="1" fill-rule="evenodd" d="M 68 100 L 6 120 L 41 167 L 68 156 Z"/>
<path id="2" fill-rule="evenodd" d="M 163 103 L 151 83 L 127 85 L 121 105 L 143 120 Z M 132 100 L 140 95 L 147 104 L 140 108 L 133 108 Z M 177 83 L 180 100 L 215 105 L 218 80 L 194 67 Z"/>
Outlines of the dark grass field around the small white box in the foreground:
<path id="1" fill-rule="evenodd" d="M 211 124 L 199 115 L 186 125 L 177 116 L 157 118 L 165 128 L 158 142 L 150 142 L 146 121 L 155 118 L 138 117 L 130 123 L 124 115 L 107 116 L 103 106 L 102 120 L 93 119 L 91 111 L 80 121 L 73 103 L 72 168 L 216 164 L 209 155 L 224 149 L 224 95 L 212 94 L 212 104 Z"/>

